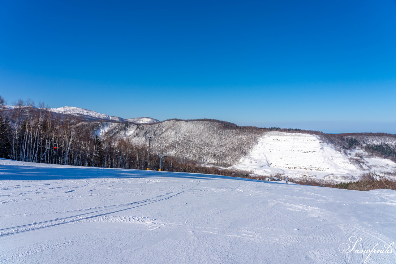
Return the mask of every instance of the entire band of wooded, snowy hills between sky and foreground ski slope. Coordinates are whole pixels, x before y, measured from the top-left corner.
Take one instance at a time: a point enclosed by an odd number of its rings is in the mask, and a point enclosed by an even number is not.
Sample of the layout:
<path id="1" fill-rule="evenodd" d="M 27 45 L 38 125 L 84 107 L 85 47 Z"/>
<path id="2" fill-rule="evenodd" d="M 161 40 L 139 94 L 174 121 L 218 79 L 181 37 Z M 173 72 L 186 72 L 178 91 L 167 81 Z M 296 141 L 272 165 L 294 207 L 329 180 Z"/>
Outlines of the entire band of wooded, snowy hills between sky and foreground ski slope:
<path id="1" fill-rule="evenodd" d="M 390 171 L 391 161 L 396 161 L 396 136 L 392 134 L 325 134 L 211 119 L 170 119 L 153 124 L 97 121 L 55 113 L 44 104 L 33 107 L 31 101 L 6 108 L 0 99 L 0 156 L 18 161 L 158 169 L 157 155 L 165 153 L 163 170 L 241 175 L 255 171 L 265 175 L 305 169 L 326 172 L 329 179 L 336 171 L 350 175 Z M 297 134 L 287 136 L 290 133 Z"/>

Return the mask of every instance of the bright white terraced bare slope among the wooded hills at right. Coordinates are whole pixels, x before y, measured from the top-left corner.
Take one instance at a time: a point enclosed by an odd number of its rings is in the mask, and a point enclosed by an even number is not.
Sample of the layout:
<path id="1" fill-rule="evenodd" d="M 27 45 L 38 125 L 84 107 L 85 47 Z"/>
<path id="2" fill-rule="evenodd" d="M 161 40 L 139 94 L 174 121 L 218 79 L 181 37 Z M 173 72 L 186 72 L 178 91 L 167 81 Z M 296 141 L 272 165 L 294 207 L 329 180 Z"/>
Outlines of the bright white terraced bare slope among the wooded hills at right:
<path id="1" fill-rule="evenodd" d="M 268 132 L 232 168 L 260 175 L 281 173 L 295 178 L 337 181 L 354 181 L 367 172 L 392 172 L 396 169 L 391 160 L 378 157 L 362 159 L 352 153 L 345 155 L 317 135 Z"/>

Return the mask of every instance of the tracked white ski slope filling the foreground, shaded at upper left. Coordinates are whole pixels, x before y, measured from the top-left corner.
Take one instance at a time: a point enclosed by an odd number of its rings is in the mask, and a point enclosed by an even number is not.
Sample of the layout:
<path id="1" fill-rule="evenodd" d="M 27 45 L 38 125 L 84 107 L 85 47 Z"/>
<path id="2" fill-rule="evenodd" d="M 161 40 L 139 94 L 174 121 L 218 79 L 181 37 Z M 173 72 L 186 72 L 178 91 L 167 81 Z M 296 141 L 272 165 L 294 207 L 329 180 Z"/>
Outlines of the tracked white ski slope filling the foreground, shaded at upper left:
<path id="1" fill-rule="evenodd" d="M 396 263 L 392 190 L 1 159 L 0 212 L 1 263 Z"/>

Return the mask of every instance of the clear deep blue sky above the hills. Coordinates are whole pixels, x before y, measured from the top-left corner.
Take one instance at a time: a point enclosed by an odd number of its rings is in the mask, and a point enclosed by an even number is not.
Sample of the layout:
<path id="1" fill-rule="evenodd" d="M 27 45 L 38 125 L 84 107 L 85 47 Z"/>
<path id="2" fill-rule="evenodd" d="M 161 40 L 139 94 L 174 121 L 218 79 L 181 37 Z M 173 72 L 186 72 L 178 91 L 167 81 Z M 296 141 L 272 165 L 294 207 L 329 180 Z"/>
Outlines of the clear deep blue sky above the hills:
<path id="1" fill-rule="evenodd" d="M 396 133 L 396 2 L 2 1 L 0 95 L 123 118 Z"/>

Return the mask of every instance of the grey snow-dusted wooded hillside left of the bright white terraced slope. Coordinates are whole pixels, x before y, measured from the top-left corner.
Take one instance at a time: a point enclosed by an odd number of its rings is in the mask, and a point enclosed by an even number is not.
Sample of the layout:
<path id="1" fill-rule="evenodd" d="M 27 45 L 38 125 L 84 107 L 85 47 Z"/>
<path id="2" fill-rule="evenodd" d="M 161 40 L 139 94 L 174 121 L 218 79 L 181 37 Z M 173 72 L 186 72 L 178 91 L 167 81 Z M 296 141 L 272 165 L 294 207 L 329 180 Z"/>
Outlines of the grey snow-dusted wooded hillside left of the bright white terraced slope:
<path id="1" fill-rule="evenodd" d="M 235 127 L 219 121 L 164 121 L 154 125 L 103 123 L 101 138 L 128 139 L 153 151 L 165 152 L 179 161 L 231 166 L 257 143 L 265 130 Z"/>

